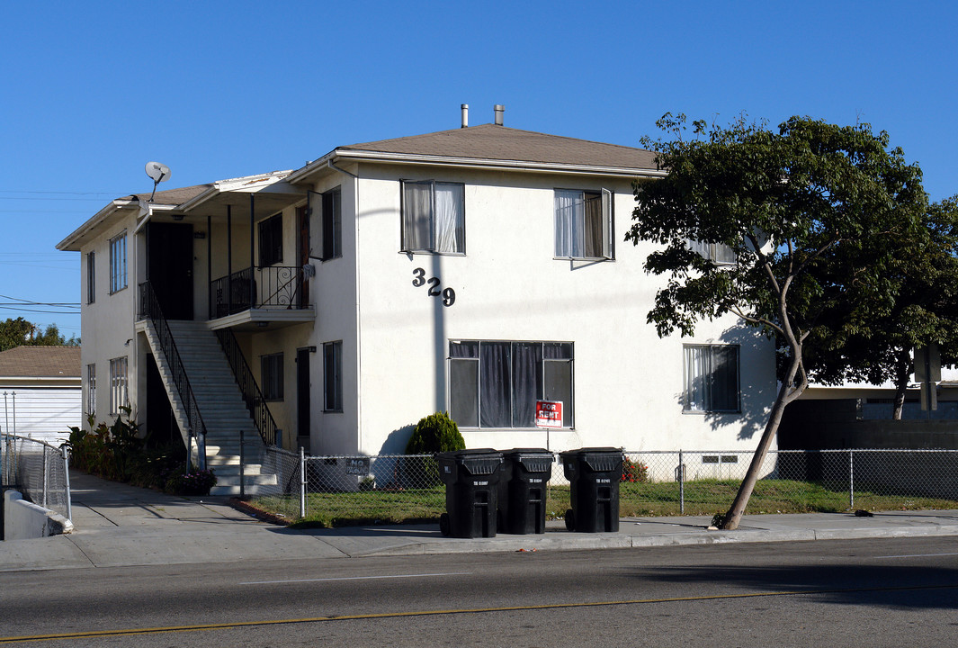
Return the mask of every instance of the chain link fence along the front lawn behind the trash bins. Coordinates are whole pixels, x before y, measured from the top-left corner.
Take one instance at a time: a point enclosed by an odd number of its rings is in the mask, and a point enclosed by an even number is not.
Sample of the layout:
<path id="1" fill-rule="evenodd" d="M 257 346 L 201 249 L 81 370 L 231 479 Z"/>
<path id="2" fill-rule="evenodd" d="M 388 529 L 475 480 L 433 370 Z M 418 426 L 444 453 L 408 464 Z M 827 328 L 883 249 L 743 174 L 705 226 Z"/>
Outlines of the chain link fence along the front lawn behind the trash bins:
<path id="1" fill-rule="evenodd" d="M 627 451 L 620 515 L 724 513 L 752 460 L 751 451 Z M 558 459 L 558 456 L 557 456 Z M 245 495 L 288 520 L 325 525 L 436 521 L 445 486 L 431 455 L 305 456 L 262 448 L 261 474 Z M 569 507 L 559 460 L 548 483 L 547 516 Z M 958 508 L 958 451 L 772 451 L 746 513 Z"/>

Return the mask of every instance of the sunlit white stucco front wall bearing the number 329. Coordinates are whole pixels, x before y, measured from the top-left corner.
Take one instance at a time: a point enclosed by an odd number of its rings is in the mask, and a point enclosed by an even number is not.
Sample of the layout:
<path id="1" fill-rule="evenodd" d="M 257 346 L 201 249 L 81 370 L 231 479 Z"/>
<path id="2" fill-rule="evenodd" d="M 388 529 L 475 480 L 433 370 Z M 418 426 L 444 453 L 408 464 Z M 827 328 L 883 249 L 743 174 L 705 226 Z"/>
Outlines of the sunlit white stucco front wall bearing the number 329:
<path id="1" fill-rule="evenodd" d="M 623 243 L 627 180 L 372 165 L 359 174 L 359 392 L 347 398 L 358 399 L 360 451 L 401 451 L 409 426 L 447 408 L 449 339 L 575 344 L 575 428 L 553 431 L 552 450 L 754 448 L 775 392 L 772 345 L 732 318 L 687 340 L 656 336 L 646 324 L 659 286 L 642 269 L 649 249 Z M 399 177 L 465 183 L 465 256 L 399 252 Z M 615 261 L 554 259 L 556 188 L 615 192 Z M 455 289 L 453 306 L 413 286 L 417 267 Z M 741 414 L 682 413 L 683 341 L 741 344 Z M 469 447 L 546 445 L 542 430 L 463 433 Z"/>

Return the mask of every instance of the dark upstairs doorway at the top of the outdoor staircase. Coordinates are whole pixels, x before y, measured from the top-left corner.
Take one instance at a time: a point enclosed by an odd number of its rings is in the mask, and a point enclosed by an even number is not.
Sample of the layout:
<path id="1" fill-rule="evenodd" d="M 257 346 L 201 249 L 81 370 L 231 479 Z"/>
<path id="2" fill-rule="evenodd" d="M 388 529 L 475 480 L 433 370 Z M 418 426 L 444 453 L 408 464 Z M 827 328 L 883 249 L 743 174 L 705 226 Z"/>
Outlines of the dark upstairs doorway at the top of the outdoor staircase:
<path id="1" fill-rule="evenodd" d="M 147 224 L 147 279 L 167 319 L 193 319 L 193 225 Z"/>

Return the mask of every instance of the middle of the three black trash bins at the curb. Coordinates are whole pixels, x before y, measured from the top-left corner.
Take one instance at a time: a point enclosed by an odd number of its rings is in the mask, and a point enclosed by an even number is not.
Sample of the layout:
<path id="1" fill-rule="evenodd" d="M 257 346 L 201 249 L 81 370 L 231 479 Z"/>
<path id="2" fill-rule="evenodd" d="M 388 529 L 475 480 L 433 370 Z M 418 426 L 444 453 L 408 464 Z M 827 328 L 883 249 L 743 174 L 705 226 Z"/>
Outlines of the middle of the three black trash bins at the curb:
<path id="1" fill-rule="evenodd" d="M 499 531 L 545 533 L 545 499 L 555 455 L 541 448 L 502 451 Z"/>

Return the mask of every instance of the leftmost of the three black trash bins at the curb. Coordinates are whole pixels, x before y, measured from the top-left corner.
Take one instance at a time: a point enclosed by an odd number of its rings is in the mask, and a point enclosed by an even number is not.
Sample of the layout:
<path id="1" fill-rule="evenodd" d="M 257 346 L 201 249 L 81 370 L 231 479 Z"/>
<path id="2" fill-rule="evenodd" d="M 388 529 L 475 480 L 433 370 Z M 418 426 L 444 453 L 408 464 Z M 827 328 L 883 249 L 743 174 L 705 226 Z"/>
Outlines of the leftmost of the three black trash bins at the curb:
<path id="1" fill-rule="evenodd" d="M 436 454 L 445 483 L 439 529 L 455 538 L 494 538 L 502 452 L 490 448 Z"/>

